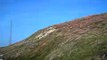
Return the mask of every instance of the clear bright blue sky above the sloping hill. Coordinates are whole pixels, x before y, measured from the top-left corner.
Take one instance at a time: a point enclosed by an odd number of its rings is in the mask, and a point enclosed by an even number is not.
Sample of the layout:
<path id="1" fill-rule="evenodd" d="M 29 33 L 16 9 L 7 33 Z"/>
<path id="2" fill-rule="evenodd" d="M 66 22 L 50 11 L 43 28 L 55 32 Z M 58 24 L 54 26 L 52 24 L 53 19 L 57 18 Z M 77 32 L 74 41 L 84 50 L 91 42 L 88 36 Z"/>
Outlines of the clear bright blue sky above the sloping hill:
<path id="1" fill-rule="evenodd" d="M 107 12 L 107 0 L 0 0 L 0 47 L 26 39 L 45 27 Z"/>

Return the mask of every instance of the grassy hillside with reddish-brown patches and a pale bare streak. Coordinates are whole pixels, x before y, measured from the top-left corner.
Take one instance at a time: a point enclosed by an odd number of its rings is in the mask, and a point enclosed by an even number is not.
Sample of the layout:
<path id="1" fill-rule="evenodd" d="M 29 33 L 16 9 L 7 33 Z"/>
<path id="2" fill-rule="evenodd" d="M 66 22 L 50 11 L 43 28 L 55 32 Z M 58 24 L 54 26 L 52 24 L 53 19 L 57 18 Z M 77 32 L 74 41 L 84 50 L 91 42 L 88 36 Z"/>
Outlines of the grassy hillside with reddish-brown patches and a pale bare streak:
<path id="1" fill-rule="evenodd" d="M 0 48 L 5 60 L 106 60 L 107 13 L 87 16 L 39 30 Z"/>

